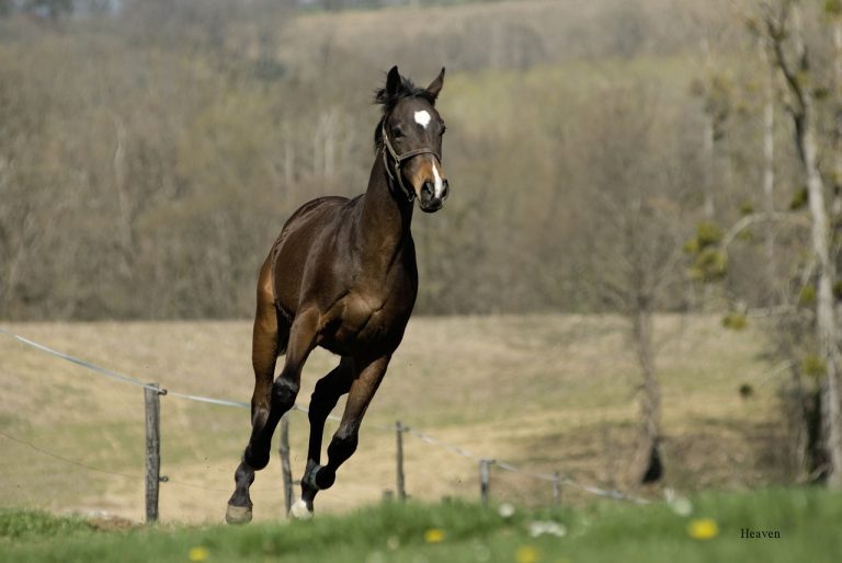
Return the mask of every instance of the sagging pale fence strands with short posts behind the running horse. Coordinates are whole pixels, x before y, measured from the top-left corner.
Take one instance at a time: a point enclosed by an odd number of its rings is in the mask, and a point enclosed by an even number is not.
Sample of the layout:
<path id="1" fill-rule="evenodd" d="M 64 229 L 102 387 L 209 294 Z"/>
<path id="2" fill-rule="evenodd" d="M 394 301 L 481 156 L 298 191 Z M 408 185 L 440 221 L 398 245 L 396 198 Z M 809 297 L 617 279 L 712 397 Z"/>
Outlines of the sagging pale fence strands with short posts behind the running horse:
<path id="1" fill-rule="evenodd" d="M 191 401 L 191 402 L 197 402 L 197 403 L 206 403 L 206 404 L 213 404 L 213 405 L 218 405 L 218 406 L 227 406 L 227 407 L 235 407 L 235 409 L 249 409 L 250 407 L 249 403 L 241 402 L 241 401 L 232 401 L 232 400 L 229 400 L 229 399 L 221 399 L 221 398 L 213 398 L 213 397 L 204 397 L 204 395 L 197 395 L 197 394 L 191 394 L 191 393 L 183 393 L 183 392 L 174 391 L 174 390 L 171 390 L 171 389 L 159 388 L 155 383 L 148 383 L 148 382 L 145 382 L 145 381 L 143 381 L 143 380 L 136 378 L 136 377 L 133 377 L 133 376 L 129 376 L 129 375 L 126 375 L 126 374 L 122 374 L 122 372 L 118 372 L 118 371 L 115 371 L 115 370 L 112 370 L 112 369 L 109 369 L 109 368 L 105 368 L 105 367 L 92 364 L 92 363 L 87 361 L 84 359 L 80 359 L 78 357 L 71 356 L 70 354 L 67 354 L 67 353 L 54 349 L 52 347 L 45 346 L 44 344 L 41 344 L 41 343 L 37 343 L 37 342 L 32 341 L 30 338 L 26 338 L 26 337 L 24 337 L 24 336 L 22 336 L 20 334 L 16 334 L 16 333 L 14 333 L 12 331 L 9 331 L 7 329 L 3 329 L 3 328 L 0 328 L 0 334 L 5 335 L 5 336 L 8 336 L 10 338 L 13 338 L 13 340 L 15 340 L 15 341 L 18 341 L 18 342 L 20 342 L 20 343 L 31 347 L 31 348 L 34 348 L 36 351 L 42 352 L 44 354 L 48 354 L 48 355 L 52 355 L 54 357 L 60 358 L 60 359 L 62 359 L 65 361 L 69 361 L 71 364 L 80 366 L 80 367 L 84 368 L 86 370 L 89 370 L 89 371 L 91 371 L 93 374 L 96 374 L 99 376 L 112 379 L 114 381 L 117 381 L 117 382 L 121 382 L 121 383 L 124 383 L 124 384 L 135 386 L 135 387 L 143 388 L 145 390 L 148 390 L 148 391 L 152 391 L 158 397 L 175 398 L 175 399 L 181 399 L 181 400 L 184 400 L 184 401 Z M 305 406 L 300 405 L 300 404 L 295 404 L 294 411 L 301 412 L 301 413 L 307 413 L 308 412 L 308 410 Z M 329 421 L 333 421 L 333 422 L 339 422 L 341 418 L 338 417 L 338 416 L 334 416 L 334 415 L 330 415 L 328 417 L 328 420 Z M 510 462 L 507 462 L 507 461 L 503 461 L 503 460 L 492 459 L 492 458 L 490 458 L 488 456 L 482 456 L 482 455 L 476 453 L 476 452 L 474 452 L 474 451 L 471 451 L 471 450 L 469 450 L 469 449 L 467 449 L 467 448 L 465 448 L 463 446 L 450 444 L 450 443 L 441 440 L 439 438 L 434 438 L 433 436 L 431 436 L 430 434 L 428 434 L 425 432 L 421 432 L 421 430 L 418 430 L 418 429 L 414 429 L 414 428 L 411 428 L 411 427 L 402 426 L 400 423 L 397 423 L 396 425 L 366 424 L 365 426 L 367 428 L 376 429 L 376 430 L 383 432 L 383 433 L 395 433 L 398 436 L 398 444 L 399 444 L 399 446 L 398 446 L 397 449 L 398 449 L 398 467 L 399 467 L 399 469 L 398 469 L 398 484 L 397 484 L 398 485 L 397 486 L 398 491 L 397 492 L 398 492 L 399 497 L 401 497 L 401 498 L 405 496 L 406 493 L 403 491 L 403 475 L 402 475 L 402 472 L 403 472 L 402 468 L 403 468 L 405 461 L 403 461 L 402 446 L 400 446 L 400 444 L 402 443 L 402 435 L 407 435 L 407 436 L 413 437 L 413 438 L 416 438 L 416 439 L 418 439 L 418 440 L 420 440 L 422 443 L 425 443 L 425 444 L 428 444 L 428 445 L 430 445 L 432 447 L 436 447 L 436 448 L 440 448 L 442 450 L 450 451 L 450 452 L 452 452 L 452 453 L 454 453 L 456 456 L 465 458 L 466 460 L 473 460 L 475 463 L 478 463 L 479 476 L 480 476 L 480 495 L 481 495 L 481 499 L 482 499 L 483 503 L 488 502 L 488 494 L 489 494 L 489 487 L 490 487 L 490 484 L 489 484 L 490 476 L 489 475 L 490 475 L 491 468 L 497 468 L 497 469 L 501 470 L 502 472 L 507 472 L 507 473 L 511 473 L 511 474 L 516 474 L 516 475 L 522 475 L 522 476 L 525 476 L 527 479 L 550 483 L 551 486 L 553 486 L 553 502 L 554 502 L 554 504 L 557 504 L 557 503 L 560 502 L 561 490 L 565 489 L 565 487 L 571 489 L 571 490 L 577 490 L 577 491 L 580 491 L 580 492 L 583 492 L 583 493 L 587 493 L 587 494 L 590 494 L 590 495 L 595 495 L 595 496 L 599 496 L 599 497 L 610 498 L 610 499 L 630 501 L 630 502 L 640 503 L 640 504 L 645 504 L 645 503 L 648 502 L 648 501 L 646 501 L 644 498 L 639 498 L 639 497 L 626 494 L 626 493 L 624 493 L 622 491 L 610 490 L 610 489 L 602 489 L 602 487 L 599 487 L 599 486 L 580 483 L 580 482 L 578 482 L 577 480 L 572 479 L 569 475 L 562 475 L 560 472 L 545 473 L 545 472 L 541 472 L 541 471 L 535 471 L 535 470 L 530 469 L 530 468 L 523 468 L 523 467 L 514 466 L 514 464 L 512 464 Z M 111 471 L 111 470 L 107 470 L 107 469 L 102 469 L 102 468 L 95 467 L 93 464 L 83 463 L 81 461 L 71 459 L 71 458 L 69 458 L 67 456 L 58 455 L 58 453 L 56 453 L 54 451 L 50 451 L 50 450 L 48 450 L 48 449 L 46 449 L 46 448 L 44 448 L 42 446 L 38 446 L 36 444 L 33 444 L 33 443 L 27 441 L 25 439 L 22 439 L 20 437 L 13 436 L 13 435 L 11 435 L 9 433 L 5 433 L 5 432 L 0 432 L 0 436 L 2 436 L 3 438 L 5 438 L 8 440 L 11 440 L 13 443 L 19 444 L 20 446 L 30 448 L 33 451 L 35 451 L 35 452 L 37 452 L 37 453 L 39 453 L 42 456 L 46 456 L 46 457 L 53 458 L 53 459 L 55 459 L 57 461 L 60 461 L 62 463 L 66 463 L 66 464 L 78 467 L 78 468 L 83 469 L 86 471 L 116 475 L 116 476 L 121 476 L 121 478 L 128 479 L 128 480 L 144 480 L 145 479 L 145 476 L 141 475 L 141 474 L 130 474 L 130 473 L 124 473 L 124 472 L 118 472 L 118 471 Z M 287 448 L 288 448 L 288 445 L 287 445 Z M 148 480 L 148 476 L 147 476 L 147 480 Z M 161 478 L 161 481 L 166 481 L 169 484 L 172 484 L 172 485 L 175 485 L 175 486 L 181 486 L 181 487 L 189 487 L 189 489 L 196 489 L 196 490 L 204 490 L 204 491 L 213 491 L 213 492 L 228 492 L 228 490 L 224 490 L 224 489 L 219 489 L 219 487 L 213 487 L 213 486 L 207 486 L 205 484 L 192 483 L 192 482 L 186 482 L 186 481 L 181 481 L 181 480 L 171 480 L 171 479 L 168 479 L 168 478 Z M 274 491 L 277 491 L 278 489 L 280 487 L 273 487 Z M 260 492 L 261 489 L 255 487 L 253 491 L 254 492 Z M 263 491 L 265 491 L 265 490 L 263 490 Z M 157 501 L 156 501 L 156 504 L 157 504 Z"/>

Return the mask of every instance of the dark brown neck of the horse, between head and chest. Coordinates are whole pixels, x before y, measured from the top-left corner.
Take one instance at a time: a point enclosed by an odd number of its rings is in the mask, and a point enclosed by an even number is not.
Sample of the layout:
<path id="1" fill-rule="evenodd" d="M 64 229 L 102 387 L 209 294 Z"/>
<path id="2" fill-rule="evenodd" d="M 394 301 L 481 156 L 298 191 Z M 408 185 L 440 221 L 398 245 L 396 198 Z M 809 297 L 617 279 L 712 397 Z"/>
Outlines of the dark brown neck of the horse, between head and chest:
<path id="1" fill-rule="evenodd" d="M 363 198 L 361 238 L 363 251 L 372 258 L 391 262 L 410 238 L 413 204 L 402 194 L 392 194 L 380 152 L 372 166 Z"/>

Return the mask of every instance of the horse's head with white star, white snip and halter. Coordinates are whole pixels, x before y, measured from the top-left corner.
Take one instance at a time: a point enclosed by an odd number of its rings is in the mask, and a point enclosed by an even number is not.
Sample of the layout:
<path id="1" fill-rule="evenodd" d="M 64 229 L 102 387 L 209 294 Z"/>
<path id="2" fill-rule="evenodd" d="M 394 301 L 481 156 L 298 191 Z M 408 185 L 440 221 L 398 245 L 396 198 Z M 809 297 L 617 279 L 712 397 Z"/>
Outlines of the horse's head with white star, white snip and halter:
<path id="1" fill-rule="evenodd" d="M 392 67 L 386 87 L 375 96 L 383 118 L 374 133 L 386 171 L 410 200 L 418 197 L 422 211 L 434 212 L 447 199 L 450 187 L 442 168 L 444 122 L 435 100 L 444 84 L 444 68 L 426 88 L 417 88 Z"/>

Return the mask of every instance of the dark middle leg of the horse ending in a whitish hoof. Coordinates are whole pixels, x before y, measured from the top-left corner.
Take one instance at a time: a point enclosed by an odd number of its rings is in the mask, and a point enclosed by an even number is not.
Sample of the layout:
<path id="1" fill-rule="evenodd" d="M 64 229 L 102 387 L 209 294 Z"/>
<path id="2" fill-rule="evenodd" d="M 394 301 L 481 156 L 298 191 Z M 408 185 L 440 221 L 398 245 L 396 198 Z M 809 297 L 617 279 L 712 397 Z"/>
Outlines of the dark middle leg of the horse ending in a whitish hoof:
<path id="1" fill-rule="evenodd" d="M 316 493 L 330 486 L 319 478 L 321 469 L 321 440 L 325 434 L 325 421 L 330 411 L 337 406 L 339 398 L 348 393 L 354 380 L 353 360 L 345 356 L 330 374 L 319 379 L 310 398 L 310 441 L 307 448 L 307 468 L 301 479 L 301 499 L 292 508 L 291 514 L 296 518 L 308 517 L 312 514 L 312 501 Z M 326 486 L 327 485 L 327 486 Z"/>

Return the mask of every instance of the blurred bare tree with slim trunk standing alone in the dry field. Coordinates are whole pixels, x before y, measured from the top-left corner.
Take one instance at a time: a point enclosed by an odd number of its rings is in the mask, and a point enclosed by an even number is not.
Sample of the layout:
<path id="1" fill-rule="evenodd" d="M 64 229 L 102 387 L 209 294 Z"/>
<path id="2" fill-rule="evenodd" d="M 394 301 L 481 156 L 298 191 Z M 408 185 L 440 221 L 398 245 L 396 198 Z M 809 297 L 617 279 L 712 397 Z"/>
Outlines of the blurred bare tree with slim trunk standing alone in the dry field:
<path id="1" fill-rule="evenodd" d="M 599 106 L 602 118 L 590 122 L 595 137 L 588 138 L 599 148 L 585 172 L 588 206 L 595 215 L 579 253 L 598 301 L 629 322 L 641 376 L 641 427 L 628 481 L 639 484 L 656 482 L 663 472 L 655 314 L 682 300 L 686 232 L 681 216 L 687 186 L 680 159 L 668 156 L 670 135 L 659 123 L 657 88 L 619 88 L 601 96 Z"/>

